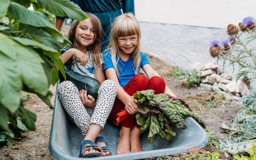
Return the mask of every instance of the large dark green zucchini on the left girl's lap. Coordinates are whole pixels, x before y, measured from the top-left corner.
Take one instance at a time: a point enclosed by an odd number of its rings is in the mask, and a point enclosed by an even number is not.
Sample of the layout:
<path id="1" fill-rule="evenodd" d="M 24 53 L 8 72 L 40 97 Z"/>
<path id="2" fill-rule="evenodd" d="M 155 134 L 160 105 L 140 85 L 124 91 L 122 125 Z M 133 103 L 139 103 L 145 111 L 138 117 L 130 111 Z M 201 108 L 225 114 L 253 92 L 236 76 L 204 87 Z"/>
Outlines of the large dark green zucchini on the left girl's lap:
<path id="1" fill-rule="evenodd" d="M 82 76 L 71 70 L 65 73 L 67 81 L 74 83 L 78 90 L 86 90 L 87 95 L 92 95 L 92 97 L 97 100 L 98 90 L 100 88 L 100 83 L 97 79 L 90 76 Z"/>

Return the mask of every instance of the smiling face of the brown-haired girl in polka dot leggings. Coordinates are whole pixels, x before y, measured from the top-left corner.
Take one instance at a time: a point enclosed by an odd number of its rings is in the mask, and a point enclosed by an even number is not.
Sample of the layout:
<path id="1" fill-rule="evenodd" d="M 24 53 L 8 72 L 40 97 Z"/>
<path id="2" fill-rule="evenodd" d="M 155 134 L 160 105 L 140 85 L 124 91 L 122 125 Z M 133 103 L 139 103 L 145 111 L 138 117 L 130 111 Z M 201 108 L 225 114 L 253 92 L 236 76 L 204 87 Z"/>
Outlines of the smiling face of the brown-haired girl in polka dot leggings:
<path id="1" fill-rule="evenodd" d="M 76 42 L 79 48 L 83 49 L 92 45 L 95 41 L 94 28 L 90 19 L 80 21 L 76 28 Z"/>

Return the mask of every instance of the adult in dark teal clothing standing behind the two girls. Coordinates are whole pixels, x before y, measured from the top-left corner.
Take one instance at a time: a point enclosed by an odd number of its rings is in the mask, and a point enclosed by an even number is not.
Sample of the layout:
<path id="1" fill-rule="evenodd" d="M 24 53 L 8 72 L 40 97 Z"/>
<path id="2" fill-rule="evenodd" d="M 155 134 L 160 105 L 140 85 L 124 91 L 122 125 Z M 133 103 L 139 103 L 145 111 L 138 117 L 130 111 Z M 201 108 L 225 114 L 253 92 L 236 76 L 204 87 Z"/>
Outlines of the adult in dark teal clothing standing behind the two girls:
<path id="1" fill-rule="evenodd" d="M 103 29 L 101 51 L 104 51 L 109 44 L 111 24 L 115 17 L 122 12 L 134 14 L 134 0 L 73 0 L 73 3 L 80 6 L 84 12 L 93 13 L 100 19 Z M 65 18 L 67 17 L 56 17 L 55 26 L 58 30 L 61 29 Z"/>

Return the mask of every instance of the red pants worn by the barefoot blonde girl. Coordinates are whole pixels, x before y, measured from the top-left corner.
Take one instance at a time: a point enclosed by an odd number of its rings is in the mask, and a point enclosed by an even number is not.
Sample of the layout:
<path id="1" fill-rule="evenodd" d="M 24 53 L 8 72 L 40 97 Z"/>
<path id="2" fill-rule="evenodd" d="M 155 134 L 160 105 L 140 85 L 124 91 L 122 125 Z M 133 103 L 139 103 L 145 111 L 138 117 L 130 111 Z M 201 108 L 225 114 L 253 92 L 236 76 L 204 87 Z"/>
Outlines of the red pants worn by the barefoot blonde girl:
<path id="1" fill-rule="evenodd" d="M 124 90 L 129 95 L 133 95 L 137 91 L 141 90 L 154 90 L 155 94 L 164 93 L 165 83 L 162 77 L 154 76 L 148 79 L 147 76 L 143 74 L 137 74 L 132 77 L 132 79 L 124 86 Z M 124 103 L 117 99 L 115 100 L 113 109 L 108 117 L 108 120 L 111 124 L 115 124 L 115 116 L 120 111 L 125 109 Z M 122 126 L 132 128 L 136 125 L 135 115 L 128 116 L 123 122 Z"/>

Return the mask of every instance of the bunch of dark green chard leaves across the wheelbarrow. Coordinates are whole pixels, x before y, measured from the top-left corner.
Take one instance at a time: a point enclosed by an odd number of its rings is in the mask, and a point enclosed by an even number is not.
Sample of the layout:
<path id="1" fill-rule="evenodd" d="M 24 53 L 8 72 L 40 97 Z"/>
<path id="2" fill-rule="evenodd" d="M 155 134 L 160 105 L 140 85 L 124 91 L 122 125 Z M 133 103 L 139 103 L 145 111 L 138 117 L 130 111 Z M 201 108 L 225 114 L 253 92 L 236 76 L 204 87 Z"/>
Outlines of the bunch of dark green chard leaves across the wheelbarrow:
<path id="1" fill-rule="evenodd" d="M 169 98 L 168 94 L 154 95 L 154 90 L 136 92 L 134 99 L 138 99 L 137 123 L 141 132 L 148 132 L 148 141 L 154 142 L 156 136 L 172 140 L 176 135 L 172 127 L 186 129 L 184 118 L 193 117 L 200 125 L 205 127 L 204 121 L 191 113 L 188 105 L 179 99 Z"/>

